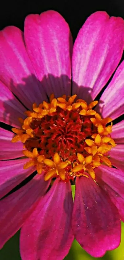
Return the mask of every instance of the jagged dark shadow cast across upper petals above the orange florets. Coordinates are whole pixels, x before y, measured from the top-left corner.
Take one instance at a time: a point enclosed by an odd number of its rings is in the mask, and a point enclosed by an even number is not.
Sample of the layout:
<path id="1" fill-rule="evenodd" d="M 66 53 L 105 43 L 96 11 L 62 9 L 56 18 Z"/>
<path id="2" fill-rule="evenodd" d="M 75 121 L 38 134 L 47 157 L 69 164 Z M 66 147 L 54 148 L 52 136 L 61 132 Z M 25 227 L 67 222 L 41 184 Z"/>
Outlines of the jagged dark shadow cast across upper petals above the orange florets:
<path id="1" fill-rule="evenodd" d="M 16 99 L 18 100 L 18 102 L 20 102 L 21 104 L 25 103 L 23 104 L 25 111 L 30 110 L 34 102 L 37 103 L 38 105 L 42 103 L 43 100 L 48 101 L 52 93 L 55 94 L 56 98 L 64 94 L 66 94 L 67 96 L 72 95 L 71 94 L 72 85 L 75 89 L 75 92 L 73 94 L 77 94 L 76 99 L 88 100 L 89 101 L 88 103 L 92 101 L 91 98 L 92 90 L 89 87 L 78 86 L 75 82 L 71 82 L 71 80 L 66 75 L 61 75 L 61 77 L 54 77 L 52 74 L 48 74 L 47 76 L 43 77 L 41 82 L 37 80 L 35 75 L 30 75 L 27 78 L 22 78 L 22 81 L 24 82 L 23 84 L 20 83 L 15 86 L 14 82 L 11 80 L 10 89 L 14 97 L 16 97 Z M 37 87 L 36 85 L 33 86 L 33 92 L 32 92 L 32 88 L 30 88 L 31 82 L 38 83 Z M 37 88 L 39 89 L 39 91 L 41 90 L 40 96 L 39 95 L 37 96 Z M 27 96 L 25 95 L 24 97 L 22 93 L 26 93 Z M 44 93 L 44 95 L 42 95 L 42 93 Z M 27 102 L 26 102 L 26 98 L 28 100 Z M 15 102 L 14 99 L 6 100 L 4 101 L 3 106 L 5 108 L 3 114 L 3 120 L 6 120 L 7 117 L 9 121 L 9 125 L 11 126 L 15 118 L 15 111 L 18 111 L 17 102 Z M 10 108 L 13 109 L 10 110 Z M 5 123 L 3 123 L 2 126 L 4 129 L 11 130 L 9 126 L 7 128 Z"/>

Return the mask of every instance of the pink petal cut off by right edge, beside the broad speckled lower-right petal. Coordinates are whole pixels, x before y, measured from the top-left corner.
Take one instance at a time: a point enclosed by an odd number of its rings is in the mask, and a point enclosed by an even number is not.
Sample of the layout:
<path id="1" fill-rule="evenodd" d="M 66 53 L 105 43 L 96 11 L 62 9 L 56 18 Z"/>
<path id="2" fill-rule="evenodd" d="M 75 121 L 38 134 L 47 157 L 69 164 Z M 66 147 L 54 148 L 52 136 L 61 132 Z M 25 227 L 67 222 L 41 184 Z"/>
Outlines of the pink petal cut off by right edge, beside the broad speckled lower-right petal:
<path id="1" fill-rule="evenodd" d="M 105 165 L 95 169 L 96 182 L 117 207 L 124 221 L 124 172 Z"/>

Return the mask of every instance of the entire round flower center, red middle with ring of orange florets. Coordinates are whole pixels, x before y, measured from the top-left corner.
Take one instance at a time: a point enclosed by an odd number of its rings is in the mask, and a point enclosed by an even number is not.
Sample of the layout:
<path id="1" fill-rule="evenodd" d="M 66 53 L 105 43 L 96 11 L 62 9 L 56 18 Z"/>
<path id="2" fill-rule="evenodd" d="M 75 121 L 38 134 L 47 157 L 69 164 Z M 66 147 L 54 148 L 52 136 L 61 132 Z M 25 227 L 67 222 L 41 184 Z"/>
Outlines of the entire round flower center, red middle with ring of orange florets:
<path id="1" fill-rule="evenodd" d="M 32 111 L 26 111 L 21 129 L 12 128 L 16 136 L 12 142 L 24 143 L 23 151 L 30 160 L 24 169 L 35 165 L 38 174 L 45 174 L 45 180 L 60 177 L 63 181 L 88 174 L 95 179 L 94 168 L 105 163 L 111 167 L 108 152 L 116 144 L 111 138 L 112 119 L 101 116 L 76 95 L 68 98 L 50 96 L 50 103 L 33 104 Z M 110 123 L 111 125 L 106 126 Z"/>

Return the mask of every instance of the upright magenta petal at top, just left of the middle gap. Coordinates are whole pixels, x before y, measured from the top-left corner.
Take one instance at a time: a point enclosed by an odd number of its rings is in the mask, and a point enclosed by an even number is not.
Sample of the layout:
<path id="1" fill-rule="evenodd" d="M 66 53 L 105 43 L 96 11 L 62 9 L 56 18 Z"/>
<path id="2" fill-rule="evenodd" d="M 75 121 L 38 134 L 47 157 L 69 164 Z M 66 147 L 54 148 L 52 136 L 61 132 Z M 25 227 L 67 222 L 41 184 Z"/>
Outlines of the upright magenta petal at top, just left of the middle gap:
<path id="1" fill-rule="evenodd" d="M 72 38 L 64 18 L 56 11 L 28 15 L 24 33 L 28 54 L 47 95 L 70 95 Z"/>

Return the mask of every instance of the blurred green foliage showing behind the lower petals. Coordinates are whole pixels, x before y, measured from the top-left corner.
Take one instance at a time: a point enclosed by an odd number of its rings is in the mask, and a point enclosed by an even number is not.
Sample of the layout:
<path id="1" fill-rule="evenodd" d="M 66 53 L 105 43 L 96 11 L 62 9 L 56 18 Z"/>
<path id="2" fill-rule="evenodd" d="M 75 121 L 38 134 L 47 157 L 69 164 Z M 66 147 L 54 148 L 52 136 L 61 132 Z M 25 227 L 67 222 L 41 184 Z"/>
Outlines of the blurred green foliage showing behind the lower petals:
<path id="1" fill-rule="evenodd" d="M 74 197 L 75 185 L 72 185 L 72 193 Z M 19 231 L 12 237 L 4 247 L 0 250 L 1 260 L 21 260 L 19 254 Z M 83 234 L 83 233 L 82 233 Z M 122 237 L 120 246 L 113 250 L 106 252 L 102 258 L 94 258 L 86 253 L 82 247 L 74 240 L 72 247 L 65 260 L 124 260 L 124 223 L 122 223 Z"/>

